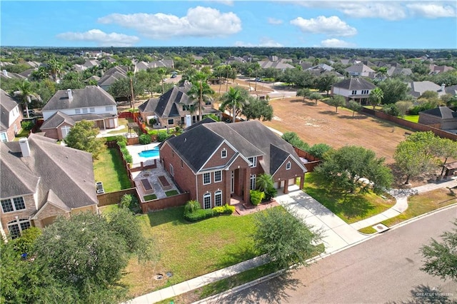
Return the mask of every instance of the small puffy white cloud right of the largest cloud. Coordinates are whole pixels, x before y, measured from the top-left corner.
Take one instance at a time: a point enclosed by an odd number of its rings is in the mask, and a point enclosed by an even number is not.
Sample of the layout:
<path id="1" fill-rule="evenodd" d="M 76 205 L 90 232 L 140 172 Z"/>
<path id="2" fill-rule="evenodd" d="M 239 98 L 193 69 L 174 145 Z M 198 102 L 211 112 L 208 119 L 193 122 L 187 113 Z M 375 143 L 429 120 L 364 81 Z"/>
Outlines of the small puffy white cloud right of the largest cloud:
<path id="1" fill-rule="evenodd" d="M 357 34 L 356 28 L 349 26 L 338 16 L 318 16 L 316 19 L 303 19 L 298 17 L 291 20 L 291 24 L 298 26 L 303 33 L 327 34 L 331 36 L 353 36 Z"/>

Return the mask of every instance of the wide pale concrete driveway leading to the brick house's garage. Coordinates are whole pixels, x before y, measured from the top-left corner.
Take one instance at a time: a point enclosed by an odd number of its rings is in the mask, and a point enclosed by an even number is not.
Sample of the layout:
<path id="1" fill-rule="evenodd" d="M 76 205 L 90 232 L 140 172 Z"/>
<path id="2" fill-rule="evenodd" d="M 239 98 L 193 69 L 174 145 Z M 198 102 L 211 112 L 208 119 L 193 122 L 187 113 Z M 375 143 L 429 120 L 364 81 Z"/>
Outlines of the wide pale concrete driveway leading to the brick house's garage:
<path id="1" fill-rule="evenodd" d="M 290 208 L 295 216 L 313 226 L 314 229 L 321 230 L 326 253 L 334 253 L 369 237 L 338 218 L 321 203 L 298 189 L 298 186 L 289 187 L 289 193 L 277 196 L 276 201 L 281 206 Z"/>

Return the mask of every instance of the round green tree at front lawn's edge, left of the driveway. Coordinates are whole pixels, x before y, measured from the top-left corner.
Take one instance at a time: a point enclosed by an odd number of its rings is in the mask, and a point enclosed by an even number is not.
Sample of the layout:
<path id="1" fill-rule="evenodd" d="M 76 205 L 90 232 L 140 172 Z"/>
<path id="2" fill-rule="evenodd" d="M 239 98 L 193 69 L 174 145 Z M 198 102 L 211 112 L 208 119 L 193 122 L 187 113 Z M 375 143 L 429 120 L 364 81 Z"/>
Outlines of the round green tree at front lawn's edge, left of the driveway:
<path id="1" fill-rule="evenodd" d="M 292 212 L 292 211 L 290 211 Z M 316 254 L 321 233 L 298 220 L 281 207 L 268 208 L 254 217 L 253 240 L 261 253 L 266 253 L 278 269 L 306 265 Z"/>

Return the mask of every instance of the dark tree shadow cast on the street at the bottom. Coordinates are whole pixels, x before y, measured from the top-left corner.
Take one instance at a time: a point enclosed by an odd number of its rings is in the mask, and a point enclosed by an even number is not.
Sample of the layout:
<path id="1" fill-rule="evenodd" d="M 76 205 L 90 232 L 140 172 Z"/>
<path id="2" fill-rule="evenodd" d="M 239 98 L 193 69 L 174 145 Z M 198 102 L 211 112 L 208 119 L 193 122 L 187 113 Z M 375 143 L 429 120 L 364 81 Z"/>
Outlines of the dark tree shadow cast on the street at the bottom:
<path id="1" fill-rule="evenodd" d="M 232 293 L 219 300 L 218 303 L 288 303 L 292 299 L 287 291 L 294 291 L 303 287 L 306 286 L 301 283 L 301 280 L 292 278 L 291 273 L 284 273 L 248 288 L 246 297 Z"/>

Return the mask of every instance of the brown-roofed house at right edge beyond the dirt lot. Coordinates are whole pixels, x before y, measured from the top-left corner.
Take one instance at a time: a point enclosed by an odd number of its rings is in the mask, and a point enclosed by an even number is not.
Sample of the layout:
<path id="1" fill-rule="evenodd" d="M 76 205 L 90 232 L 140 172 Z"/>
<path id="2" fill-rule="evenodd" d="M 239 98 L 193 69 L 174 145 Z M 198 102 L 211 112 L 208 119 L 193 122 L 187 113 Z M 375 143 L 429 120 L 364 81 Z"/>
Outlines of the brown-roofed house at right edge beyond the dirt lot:
<path id="1" fill-rule="evenodd" d="M 447 106 L 438 106 L 419 112 L 418 123 L 433 125 L 442 130 L 457 130 L 457 113 Z"/>

